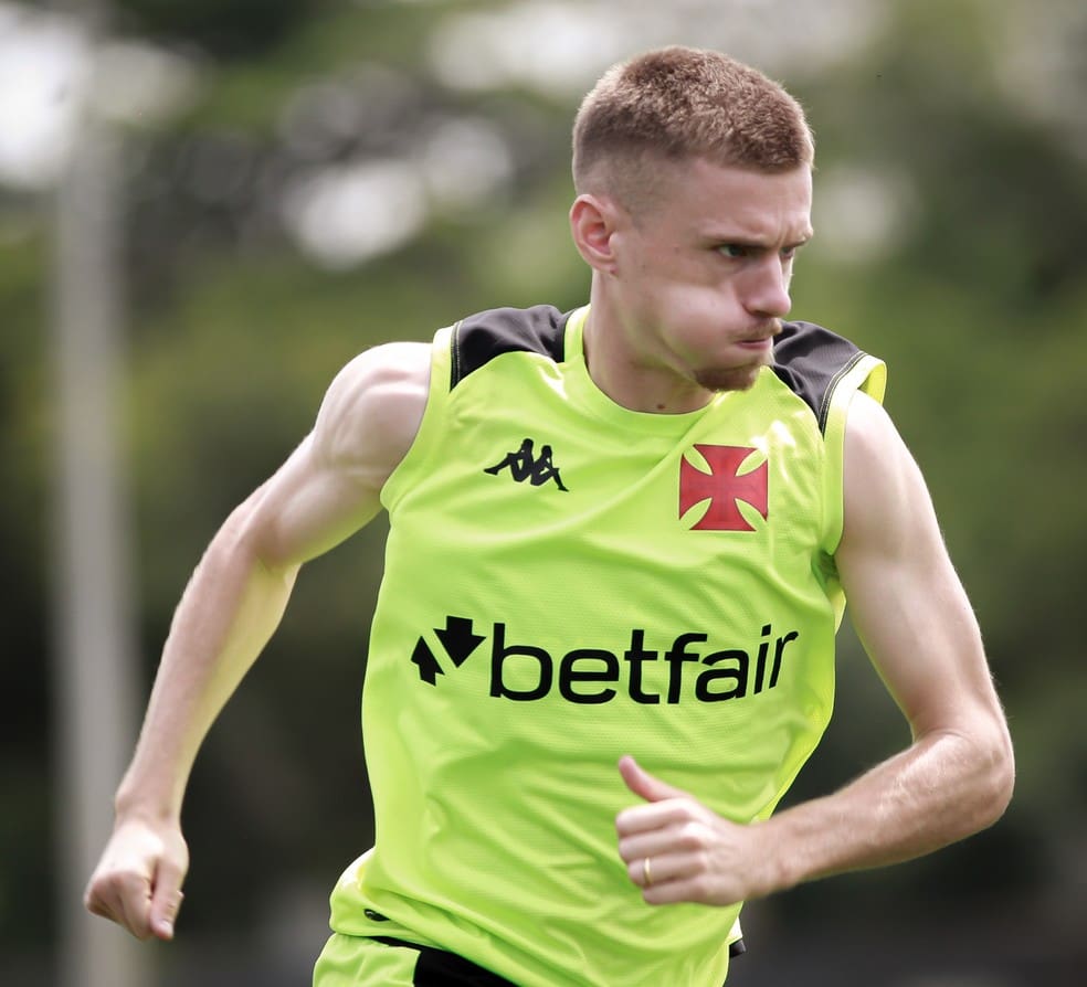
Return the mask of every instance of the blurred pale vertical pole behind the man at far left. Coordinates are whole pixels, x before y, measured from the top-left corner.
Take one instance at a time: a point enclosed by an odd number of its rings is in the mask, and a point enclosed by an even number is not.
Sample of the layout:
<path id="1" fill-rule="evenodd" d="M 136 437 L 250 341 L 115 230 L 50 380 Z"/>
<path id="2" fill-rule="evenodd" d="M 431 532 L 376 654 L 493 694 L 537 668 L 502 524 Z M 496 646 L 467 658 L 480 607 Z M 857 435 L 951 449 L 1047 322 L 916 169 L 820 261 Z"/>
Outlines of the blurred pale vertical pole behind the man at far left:
<path id="1" fill-rule="evenodd" d="M 82 106 L 56 194 L 53 280 L 57 984 L 149 987 L 148 947 L 82 903 L 135 743 L 137 649 L 119 452 L 119 139 L 86 94 L 72 98 Z"/>

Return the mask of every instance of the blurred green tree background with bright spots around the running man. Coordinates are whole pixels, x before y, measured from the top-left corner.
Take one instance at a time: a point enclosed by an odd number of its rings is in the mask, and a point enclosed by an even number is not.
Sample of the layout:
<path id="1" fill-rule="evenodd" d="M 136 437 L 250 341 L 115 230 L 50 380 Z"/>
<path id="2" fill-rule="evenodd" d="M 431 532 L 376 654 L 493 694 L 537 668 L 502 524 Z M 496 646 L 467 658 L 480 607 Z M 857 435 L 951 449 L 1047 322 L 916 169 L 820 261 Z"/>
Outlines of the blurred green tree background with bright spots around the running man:
<path id="1" fill-rule="evenodd" d="M 809 110 L 816 238 L 793 314 L 889 364 L 887 405 L 985 632 L 1020 771 L 988 832 L 752 904 L 729 983 L 1084 983 L 1087 4 L 89 10 L 0 2 L 0 983 L 61 983 L 71 906 L 51 327 L 55 191 L 87 150 L 72 106 L 86 100 L 116 149 L 123 235 L 107 259 L 141 708 L 203 546 L 308 431 L 342 363 L 483 308 L 584 300 L 566 221 L 572 114 L 604 66 L 671 42 L 750 61 Z M 382 534 L 378 521 L 304 571 L 209 737 L 179 940 L 143 947 L 144 981 L 308 983 L 327 893 L 371 838 L 358 699 Z M 795 798 L 908 742 L 848 630 L 840 681 Z"/>

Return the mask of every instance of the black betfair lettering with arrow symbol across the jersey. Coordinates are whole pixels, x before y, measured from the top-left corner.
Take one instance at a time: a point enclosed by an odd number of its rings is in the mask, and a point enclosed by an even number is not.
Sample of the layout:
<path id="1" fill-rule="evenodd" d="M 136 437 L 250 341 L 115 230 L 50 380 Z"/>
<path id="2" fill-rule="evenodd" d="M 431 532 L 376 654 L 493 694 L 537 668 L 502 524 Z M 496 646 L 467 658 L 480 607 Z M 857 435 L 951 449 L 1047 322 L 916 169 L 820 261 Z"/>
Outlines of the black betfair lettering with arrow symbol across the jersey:
<path id="1" fill-rule="evenodd" d="M 500 620 L 486 629 L 487 635 L 476 634 L 471 617 L 446 616 L 444 627 L 433 628 L 442 645 L 437 651 L 445 652 L 441 660 L 424 637 L 412 649 L 411 662 L 419 669 L 420 681 L 437 687 L 440 676 L 478 655 L 473 664 L 489 665 L 484 688 L 492 699 L 535 702 L 557 692 L 558 698 L 579 705 L 615 699 L 642 705 L 725 702 L 775 689 L 781 676 L 788 675 L 800 638 L 799 630 L 781 634 L 767 620 L 758 638 L 749 638 L 743 647 L 717 648 L 708 635 L 698 632 L 683 632 L 651 645 L 648 632 L 634 627 L 619 647 L 577 647 L 559 655 L 510 640 Z M 489 647 L 481 648 L 487 640 Z"/>

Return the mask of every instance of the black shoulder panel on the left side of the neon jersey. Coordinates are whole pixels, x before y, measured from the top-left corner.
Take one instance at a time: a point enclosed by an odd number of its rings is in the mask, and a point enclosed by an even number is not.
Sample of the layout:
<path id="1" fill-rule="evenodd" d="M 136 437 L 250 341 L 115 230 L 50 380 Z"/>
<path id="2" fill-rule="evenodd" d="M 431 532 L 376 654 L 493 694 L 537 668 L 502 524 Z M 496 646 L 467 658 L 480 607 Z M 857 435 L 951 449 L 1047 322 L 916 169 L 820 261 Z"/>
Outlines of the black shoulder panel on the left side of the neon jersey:
<path id="1" fill-rule="evenodd" d="M 450 390 L 503 353 L 540 353 L 561 362 L 569 317 L 553 306 L 537 305 L 493 308 L 462 319 L 453 328 Z"/>

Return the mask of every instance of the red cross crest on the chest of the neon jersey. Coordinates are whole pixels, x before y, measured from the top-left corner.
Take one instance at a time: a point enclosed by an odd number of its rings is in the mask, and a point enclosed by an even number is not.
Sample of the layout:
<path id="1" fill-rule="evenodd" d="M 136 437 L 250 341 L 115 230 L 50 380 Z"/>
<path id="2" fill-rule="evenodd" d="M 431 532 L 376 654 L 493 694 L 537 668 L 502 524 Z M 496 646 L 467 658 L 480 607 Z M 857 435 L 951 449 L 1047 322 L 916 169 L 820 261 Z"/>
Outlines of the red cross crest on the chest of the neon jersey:
<path id="1" fill-rule="evenodd" d="M 709 501 L 706 513 L 692 531 L 754 531 L 740 513 L 738 501 L 753 507 L 763 518 L 769 516 L 770 464 L 763 460 L 754 469 L 740 473 L 740 466 L 758 449 L 747 446 L 695 445 L 709 473 L 686 458 L 679 463 L 679 517 L 696 503 Z"/>

